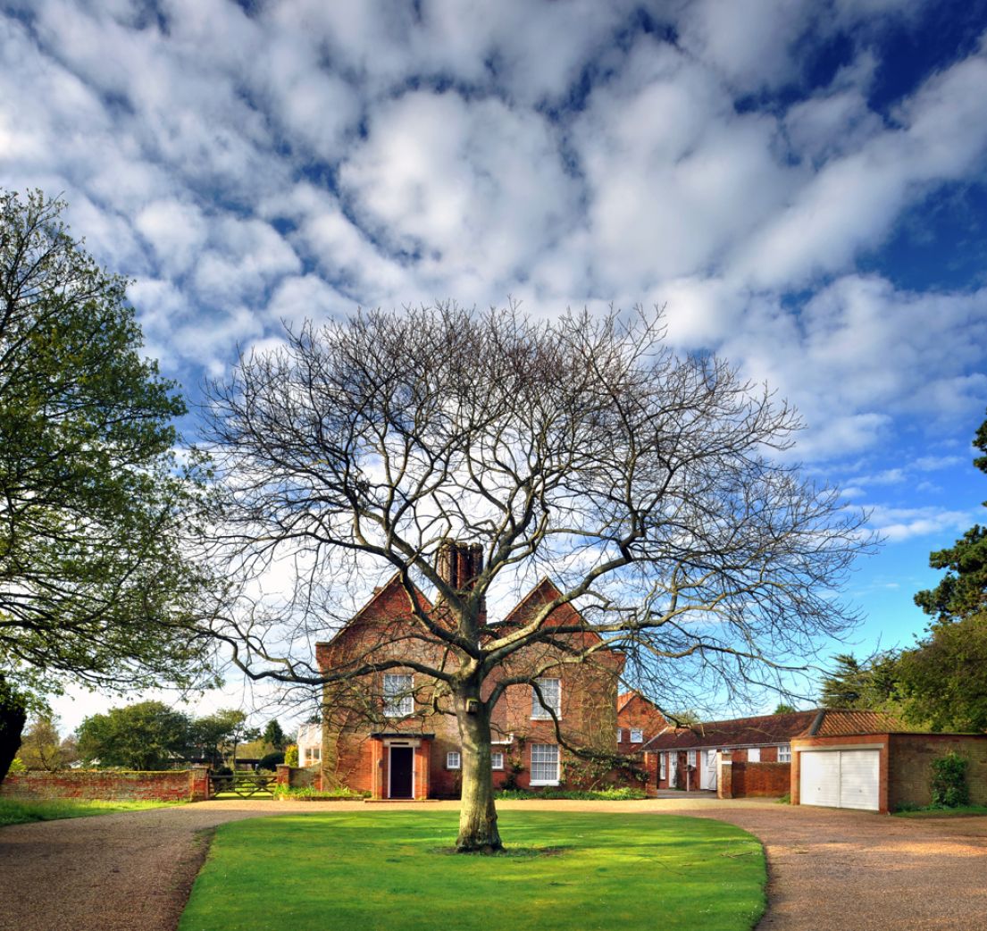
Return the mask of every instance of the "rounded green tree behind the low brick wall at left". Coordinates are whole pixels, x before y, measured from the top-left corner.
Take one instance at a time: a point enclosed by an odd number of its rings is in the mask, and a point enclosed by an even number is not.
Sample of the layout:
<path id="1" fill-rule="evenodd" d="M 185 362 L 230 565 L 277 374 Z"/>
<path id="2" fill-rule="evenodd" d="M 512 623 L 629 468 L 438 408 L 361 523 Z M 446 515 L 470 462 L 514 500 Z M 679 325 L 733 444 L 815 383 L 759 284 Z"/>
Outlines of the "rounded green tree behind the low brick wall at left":
<path id="1" fill-rule="evenodd" d="M 79 726 L 79 754 L 86 763 L 127 769 L 165 769 L 189 747 L 190 719 L 163 702 L 147 701 L 92 715 Z"/>

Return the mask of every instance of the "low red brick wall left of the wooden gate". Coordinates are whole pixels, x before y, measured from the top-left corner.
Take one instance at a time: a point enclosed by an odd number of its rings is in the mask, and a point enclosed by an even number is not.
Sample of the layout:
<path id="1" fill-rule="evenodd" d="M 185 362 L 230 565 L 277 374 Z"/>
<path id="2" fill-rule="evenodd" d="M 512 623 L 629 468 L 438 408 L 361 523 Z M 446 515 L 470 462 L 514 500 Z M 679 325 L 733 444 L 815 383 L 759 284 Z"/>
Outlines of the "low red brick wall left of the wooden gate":
<path id="1" fill-rule="evenodd" d="M 67 769 L 57 773 L 9 773 L 0 783 L 0 798 L 197 802 L 208 798 L 207 772 L 205 769 L 148 773 Z"/>

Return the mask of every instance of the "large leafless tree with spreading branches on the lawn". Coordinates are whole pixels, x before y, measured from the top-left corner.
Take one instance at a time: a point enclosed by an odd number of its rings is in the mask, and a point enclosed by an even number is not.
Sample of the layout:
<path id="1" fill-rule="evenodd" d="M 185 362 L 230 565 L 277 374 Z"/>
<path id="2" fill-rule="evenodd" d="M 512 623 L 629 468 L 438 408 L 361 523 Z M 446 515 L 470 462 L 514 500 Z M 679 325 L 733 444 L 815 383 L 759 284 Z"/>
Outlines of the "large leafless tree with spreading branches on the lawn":
<path id="1" fill-rule="evenodd" d="M 511 683 L 617 650 L 639 683 L 688 662 L 736 689 L 855 620 L 834 591 L 869 546 L 862 515 L 779 461 L 793 410 L 719 359 L 676 356 L 660 313 L 539 323 L 440 304 L 284 341 L 215 387 L 211 424 L 229 572 L 291 566 L 293 593 L 245 602 L 218 633 L 254 678 L 408 666 L 375 649 L 320 670 L 297 649 L 345 620 L 358 580 L 397 573 L 413 667 L 458 721 L 460 849 L 500 846 L 491 711 Z M 449 539 L 483 547 L 467 586 L 436 568 Z M 484 623 L 488 596 L 545 573 L 558 597 Z M 570 603 L 579 620 L 560 623 Z"/>

